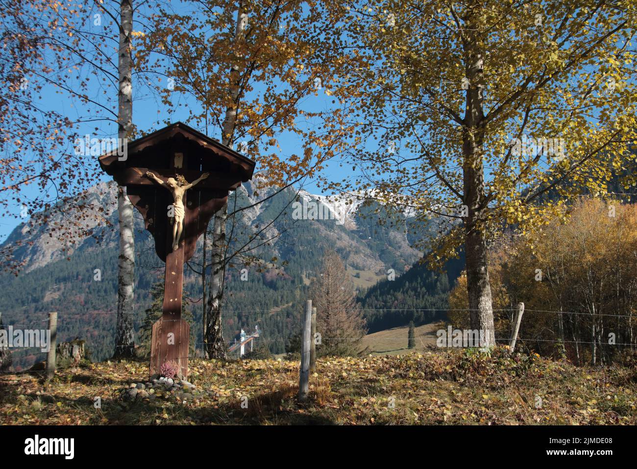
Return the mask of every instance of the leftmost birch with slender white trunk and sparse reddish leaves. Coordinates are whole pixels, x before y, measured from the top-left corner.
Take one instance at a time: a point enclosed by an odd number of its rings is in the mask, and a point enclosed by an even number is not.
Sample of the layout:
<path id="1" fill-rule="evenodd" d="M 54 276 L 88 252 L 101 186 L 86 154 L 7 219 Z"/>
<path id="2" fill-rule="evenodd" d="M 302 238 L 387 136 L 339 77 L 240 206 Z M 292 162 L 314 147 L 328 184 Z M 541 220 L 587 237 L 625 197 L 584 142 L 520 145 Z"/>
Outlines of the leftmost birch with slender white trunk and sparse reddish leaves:
<path id="1" fill-rule="evenodd" d="M 145 6 L 149 10 L 155 7 Z M 97 219 L 91 227 L 111 225 L 102 214 L 104 207 L 89 205 L 83 198 L 86 188 L 102 173 L 92 149 L 78 150 L 78 138 L 83 141 L 85 137 L 78 133 L 82 130 L 94 137 L 100 131 L 111 134 L 111 128 L 101 128 L 104 123 L 117 125 L 120 141 L 132 138 L 134 132 L 132 1 L 86 4 L 39 0 L 0 10 L 4 20 L 0 70 L 10 91 L 0 100 L 0 149 L 8 156 L 0 160 L 0 206 L 10 211 L 11 202 L 22 205 L 20 216 L 31 216 L 25 223 L 46 227 L 64 250 L 71 251 L 76 243 L 93 235 L 82 223 L 87 218 Z M 136 69 L 136 73 L 145 71 L 143 66 Z M 54 104 L 43 100 L 43 94 L 54 96 Z M 59 112 L 67 105 L 73 109 L 71 117 Z M 99 147 L 98 152 L 103 145 Z M 40 194 L 26 198 L 23 193 L 31 184 L 37 184 Z M 56 221 L 52 215 L 59 211 L 62 217 Z M 132 205 L 125 188 L 118 188 L 118 216 L 115 355 L 131 356 L 134 237 Z M 3 267 L 17 271 L 19 266 L 11 264 L 10 255 L 11 249 L 19 246 L 20 240 L 3 248 Z"/>

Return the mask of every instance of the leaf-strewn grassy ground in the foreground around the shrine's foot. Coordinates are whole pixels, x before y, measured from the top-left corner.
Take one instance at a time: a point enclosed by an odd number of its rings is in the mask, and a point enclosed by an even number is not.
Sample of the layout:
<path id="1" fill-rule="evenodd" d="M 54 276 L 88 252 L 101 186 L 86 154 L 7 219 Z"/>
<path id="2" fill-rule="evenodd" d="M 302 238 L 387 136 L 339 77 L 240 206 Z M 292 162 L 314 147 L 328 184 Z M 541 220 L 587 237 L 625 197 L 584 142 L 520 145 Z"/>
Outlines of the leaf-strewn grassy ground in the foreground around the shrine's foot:
<path id="1" fill-rule="evenodd" d="M 61 371 L 43 387 L 31 375 L 0 376 L 3 424 L 636 424 L 633 368 L 576 368 L 536 355 L 469 350 L 323 359 L 310 399 L 296 401 L 298 364 L 191 362 L 201 394 L 131 404 L 121 389 L 147 364 L 96 363 Z M 96 396 L 101 410 L 94 409 Z M 241 397 L 248 408 L 241 408 Z M 535 408 L 536 396 L 543 400 Z M 390 408 L 395 398 L 395 408 Z"/>

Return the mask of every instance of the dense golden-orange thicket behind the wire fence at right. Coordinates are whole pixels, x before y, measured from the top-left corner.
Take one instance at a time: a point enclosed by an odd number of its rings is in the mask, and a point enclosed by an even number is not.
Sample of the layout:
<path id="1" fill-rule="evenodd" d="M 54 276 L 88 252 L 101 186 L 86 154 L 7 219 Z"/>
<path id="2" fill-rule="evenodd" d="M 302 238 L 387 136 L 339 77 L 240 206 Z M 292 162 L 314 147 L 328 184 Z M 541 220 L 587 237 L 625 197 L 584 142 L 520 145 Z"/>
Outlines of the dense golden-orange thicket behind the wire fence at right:
<path id="1" fill-rule="evenodd" d="M 496 336 L 508 338 L 517 302 L 525 313 L 520 337 L 534 350 L 573 361 L 612 360 L 634 342 L 637 315 L 637 206 L 584 198 L 566 221 L 555 219 L 527 237 L 496 244 L 489 253 Z M 468 324 L 466 278 L 450 293 L 449 320 Z M 560 315 L 559 311 L 564 311 Z M 609 334 L 614 334 L 609 336 Z M 617 346 L 610 347 L 613 337 Z M 581 342 L 582 345 L 575 345 Z M 506 342 L 501 342 L 506 343 Z"/>

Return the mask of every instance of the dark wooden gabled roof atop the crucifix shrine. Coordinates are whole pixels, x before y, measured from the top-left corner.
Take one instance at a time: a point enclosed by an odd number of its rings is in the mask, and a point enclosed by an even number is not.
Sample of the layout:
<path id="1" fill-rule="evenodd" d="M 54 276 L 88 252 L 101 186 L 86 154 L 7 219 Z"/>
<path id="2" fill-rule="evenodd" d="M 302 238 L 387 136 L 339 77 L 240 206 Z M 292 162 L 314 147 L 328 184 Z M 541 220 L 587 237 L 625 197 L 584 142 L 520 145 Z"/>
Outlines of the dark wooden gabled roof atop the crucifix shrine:
<path id="1" fill-rule="evenodd" d="M 176 137 L 176 135 L 182 135 L 196 142 L 196 144 L 200 145 L 203 149 L 222 156 L 222 158 L 228 160 L 229 163 L 236 165 L 236 167 L 241 170 L 241 181 L 246 182 L 252 178 L 256 165 L 255 161 L 182 122 L 170 124 L 160 130 L 149 133 L 145 137 L 130 142 L 127 145 L 126 161 L 120 161 L 117 151 L 111 151 L 99 157 L 99 165 L 104 172 L 113 175 L 118 170 L 129 167 L 131 161 L 134 160 L 134 156 L 143 151 L 143 149 L 162 144 L 162 142 L 168 142 L 168 140 Z"/>

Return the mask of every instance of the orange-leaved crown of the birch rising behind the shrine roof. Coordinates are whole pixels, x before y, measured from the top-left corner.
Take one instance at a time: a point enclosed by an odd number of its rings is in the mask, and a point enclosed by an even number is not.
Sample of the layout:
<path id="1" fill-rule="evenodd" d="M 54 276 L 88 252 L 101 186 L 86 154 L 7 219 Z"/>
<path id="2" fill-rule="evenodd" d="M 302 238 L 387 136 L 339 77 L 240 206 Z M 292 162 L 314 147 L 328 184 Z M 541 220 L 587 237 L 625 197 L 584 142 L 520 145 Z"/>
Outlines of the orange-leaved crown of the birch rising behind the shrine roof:
<path id="1" fill-rule="evenodd" d="M 247 13 L 247 21 L 241 34 L 234 34 L 238 7 Z M 178 93 L 160 92 L 175 112 L 188 113 L 180 119 L 220 135 L 220 116 L 229 108 L 236 110 L 236 122 L 224 137 L 235 147 L 247 143 L 245 153 L 268 172 L 269 185 L 311 176 L 345 149 L 351 126 L 347 113 L 305 103 L 315 94 L 317 78 L 322 89 L 332 86 L 330 66 L 338 61 L 329 47 L 332 39 L 317 31 L 322 17 L 317 3 L 210 0 L 196 8 L 200 14 L 159 10 L 137 52 L 138 59 L 155 63 L 174 78 Z M 229 86 L 238 86 L 236 100 Z M 182 107 L 181 94 L 194 98 L 196 105 Z M 300 142 L 301 153 L 283 148 L 283 136 Z"/>

